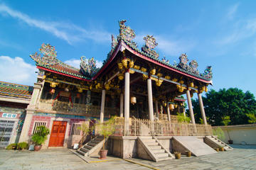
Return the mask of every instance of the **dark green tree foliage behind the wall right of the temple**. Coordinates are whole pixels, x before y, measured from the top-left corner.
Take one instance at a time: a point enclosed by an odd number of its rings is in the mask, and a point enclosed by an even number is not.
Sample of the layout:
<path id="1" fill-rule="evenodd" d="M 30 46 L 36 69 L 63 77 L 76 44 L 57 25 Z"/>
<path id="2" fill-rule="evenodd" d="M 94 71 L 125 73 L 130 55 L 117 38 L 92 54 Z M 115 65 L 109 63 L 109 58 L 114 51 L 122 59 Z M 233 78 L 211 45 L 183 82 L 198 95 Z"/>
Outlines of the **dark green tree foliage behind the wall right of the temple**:
<path id="1" fill-rule="evenodd" d="M 256 115 L 256 100 L 250 91 L 244 93 L 238 88 L 220 89 L 219 91 L 211 89 L 206 93 L 206 97 L 202 98 L 210 125 L 253 123 Z M 192 100 L 192 104 L 196 122 L 199 123 L 201 111 L 198 99 Z"/>

